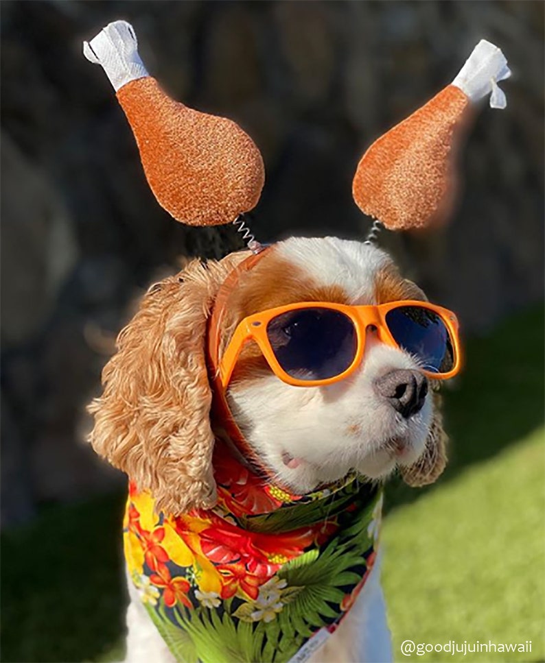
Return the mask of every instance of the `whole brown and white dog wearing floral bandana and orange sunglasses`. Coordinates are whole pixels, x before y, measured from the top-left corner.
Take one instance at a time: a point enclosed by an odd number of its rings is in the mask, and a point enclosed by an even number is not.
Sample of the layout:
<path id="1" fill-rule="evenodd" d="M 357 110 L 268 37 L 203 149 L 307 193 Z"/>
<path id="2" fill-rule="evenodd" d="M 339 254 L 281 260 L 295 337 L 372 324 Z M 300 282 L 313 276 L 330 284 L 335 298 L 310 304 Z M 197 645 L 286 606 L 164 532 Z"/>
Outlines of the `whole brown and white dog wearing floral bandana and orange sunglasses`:
<path id="1" fill-rule="evenodd" d="M 150 287 L 89 406 L 93 448 L 130 479 L 127 660 L 392 659 L 382 484 L 443 471 L 439 382 L 378 322 L 364 325 L 359 361 L 320 367 L 342 379 L 312 383 L 322 341 L 298 346 L 301 365 L 275 361 L 314 324 L 313 302 L 340 320 L 343 307 L 407 300 L 427 305 L 385 252 L 332 237 L 194 260 Z M 243 321 L 300 302 L 308 315 L 231 352 Z"/>

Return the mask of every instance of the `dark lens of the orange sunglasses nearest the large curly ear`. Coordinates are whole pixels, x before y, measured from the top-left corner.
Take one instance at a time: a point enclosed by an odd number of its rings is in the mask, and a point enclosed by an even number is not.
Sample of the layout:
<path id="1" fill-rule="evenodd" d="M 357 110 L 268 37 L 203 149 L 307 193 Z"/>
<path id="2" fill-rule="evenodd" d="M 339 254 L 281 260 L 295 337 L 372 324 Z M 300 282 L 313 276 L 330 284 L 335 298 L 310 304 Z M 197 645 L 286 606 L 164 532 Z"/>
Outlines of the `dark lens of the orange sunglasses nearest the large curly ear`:
<path id="1" fill-rule="evenodd" d="M 267 325 L 267 336 L 283 370 L 299 380 L 326 380 L 343 373 L 356 356 L 356 329 L 332 309 L 288 311 Z"/>

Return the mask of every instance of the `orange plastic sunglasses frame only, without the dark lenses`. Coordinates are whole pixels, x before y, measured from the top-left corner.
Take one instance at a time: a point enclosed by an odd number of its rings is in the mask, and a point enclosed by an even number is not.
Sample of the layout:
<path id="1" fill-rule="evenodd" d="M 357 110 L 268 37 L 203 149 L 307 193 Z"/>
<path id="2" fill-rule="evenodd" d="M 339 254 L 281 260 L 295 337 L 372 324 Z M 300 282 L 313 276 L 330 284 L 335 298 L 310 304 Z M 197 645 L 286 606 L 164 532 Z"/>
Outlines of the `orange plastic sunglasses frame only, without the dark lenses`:
<path id="1" fill-rule="evenodd" d="M 397 302 L 388 302 L 387 304 L 367 304 L 363 306 L 349 306 L 347 304 L 336 304 L 334 302 L 296 302 L 294 304 L 287 304 L 286 306 L 276 306 L 274 309 L 260 311 L 254 315 L 248 315 L 237 325 L 235 333 L 223 353 L 218 368 L 222 386 L 225 389 L 227 388 L 227 385 L 229 385 L 240 352 L 242 352 L 242 348 L 244 348 L 244 345 L 249 341 L 257 343 L 259 350 L 261 350 L 272 372 L 280 378 L 281 381 L 288 385 L 292 385 L 293 387 L 322 387 L 344 380 L 344 378 L 347 378 L 356 370 L 363 359 L 365 351 L 365 335 L 369 326 L 375 326 L 378 338 L 382 343 L 393 348 L 403 349 L 398 343 L 396 343 L 390 333 L 388 325 L 386 324 L 386 313 L 403 306 L 417 306 L 421 309 L 433 311 L 439 315 L 450 334 L 452 348 L 454 350 L 454 366 L 452 367 L 452 370 L 446 373 L 434 373 L 424 369 L 421 369 L 421 371 L 424 375 L 429 376 L 434 380 L 448 380 L 448 378 L 452 378 L 452 376 L 459 372 L 461 367 L 461 351 L 458 335 L 459 323 L 456 315 L 452 313 L 452 311 L 444 309 L 443 306 L 437 306 L 436 304 L 421 302 L 419 300 L 399 300 Z M 322 380 L 301 380 L 290 376 L 290 374 L 286 373 L 279 364 L 268 339 L 268 323 L 273 318 L 277 317 L 277 315 L 302 309 L 330 309 L 332 311 L 339 311 L 340 313 L 344 313 L 352 321 L 352 324 L 356 329 L 356 354 L 349 367 L 342 373 Z"/>

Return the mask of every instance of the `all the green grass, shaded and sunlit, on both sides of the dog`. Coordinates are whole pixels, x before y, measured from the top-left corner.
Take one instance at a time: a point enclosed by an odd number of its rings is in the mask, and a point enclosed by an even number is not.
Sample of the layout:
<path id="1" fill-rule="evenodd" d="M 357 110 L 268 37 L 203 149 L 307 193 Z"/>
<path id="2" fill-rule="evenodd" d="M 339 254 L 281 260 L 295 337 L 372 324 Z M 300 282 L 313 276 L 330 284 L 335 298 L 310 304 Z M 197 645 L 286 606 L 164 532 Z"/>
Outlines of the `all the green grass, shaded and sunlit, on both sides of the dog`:
<path id="1" fill-rule="evenodd" d="M 467 342 L 445 389 L 450 463 L 423 490 L 386 491 L 383 582 L 399 643 L 533 641 L 545 659 L 544 316 L 513 316 Z M 123 496 L 51 507 L 1 536 L 2 661 L 113 661 L 123 654 Z M 526 658 L 525 658 L 526 657 Z M 441 660 L 438 653 L 413 659 Z"/>

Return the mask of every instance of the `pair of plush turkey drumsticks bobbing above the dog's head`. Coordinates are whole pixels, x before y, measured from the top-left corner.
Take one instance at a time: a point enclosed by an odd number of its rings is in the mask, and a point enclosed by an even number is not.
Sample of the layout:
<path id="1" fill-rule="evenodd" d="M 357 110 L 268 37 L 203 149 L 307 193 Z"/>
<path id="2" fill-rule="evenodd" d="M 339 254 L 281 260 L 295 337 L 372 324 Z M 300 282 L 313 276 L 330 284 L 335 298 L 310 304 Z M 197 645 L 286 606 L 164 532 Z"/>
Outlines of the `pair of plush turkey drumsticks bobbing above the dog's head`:
<path id="1" fill-rule="evenodd" d="M 239 224 L 259 201 L 262 156 L 233 121 L 173 101 L 148 74 L 137 38 L 115 21 L 84 43 L 86 58 L 101 64 L 135 134 L 150 187 L 174 219 L 190 226 Z M 476 101 L 490 96 L 505 108 L 498 81 L 511 75 L 502 51 L 480 40 L 460 73 L 425 106 L 378 138 L 360 160 L 353 199 L 390 230 L 444 223 L 456 189 L 455 158 Z M 374 232 L 373 232 L 374 234 Z"/>

